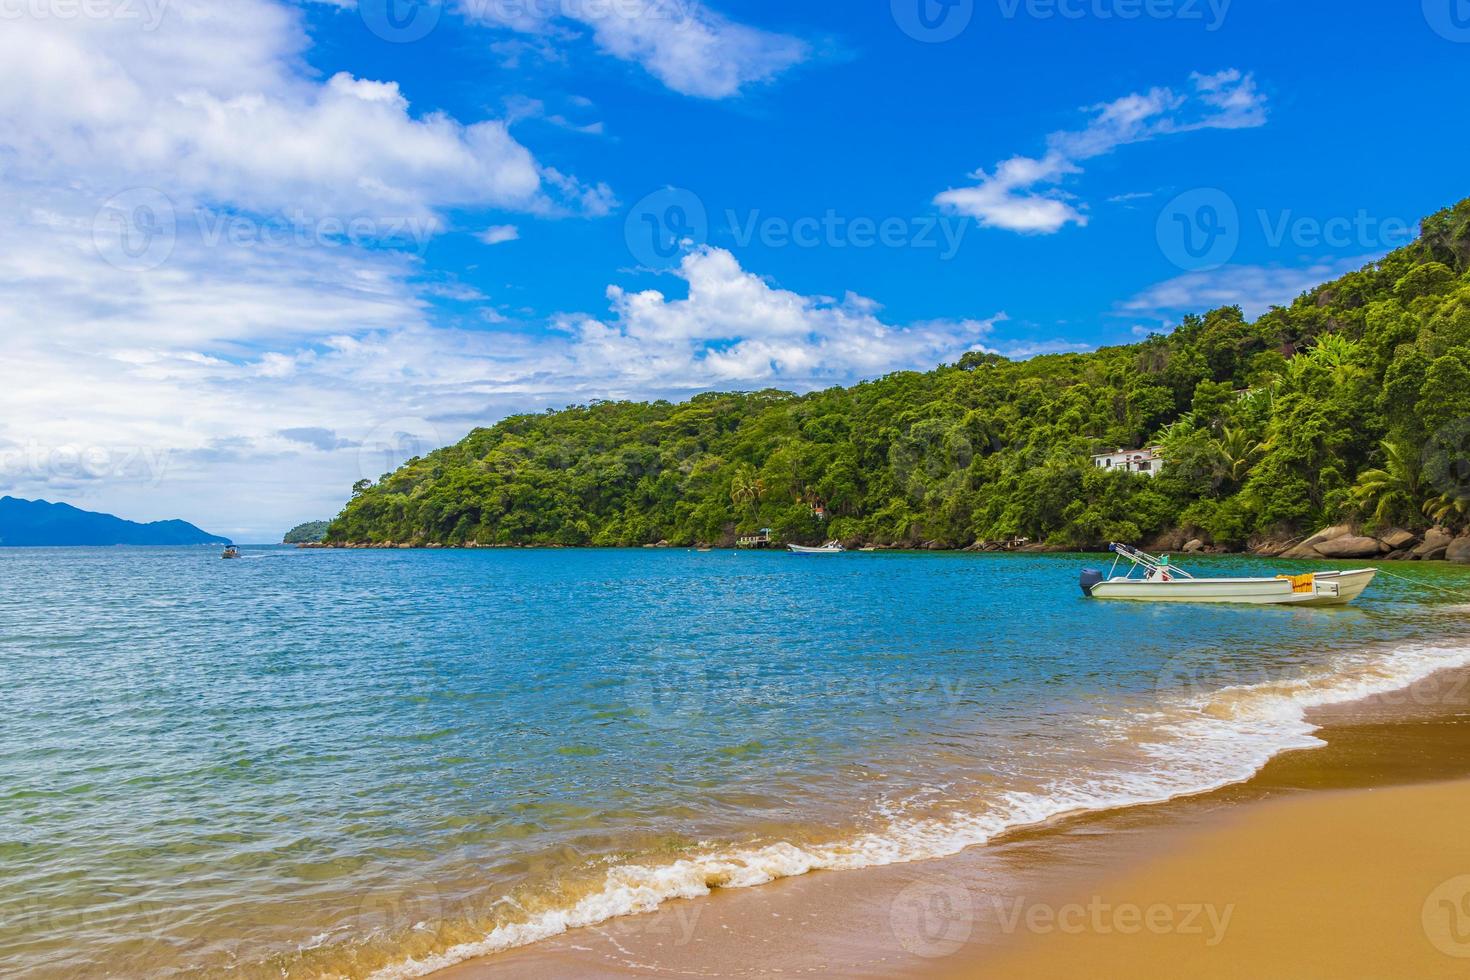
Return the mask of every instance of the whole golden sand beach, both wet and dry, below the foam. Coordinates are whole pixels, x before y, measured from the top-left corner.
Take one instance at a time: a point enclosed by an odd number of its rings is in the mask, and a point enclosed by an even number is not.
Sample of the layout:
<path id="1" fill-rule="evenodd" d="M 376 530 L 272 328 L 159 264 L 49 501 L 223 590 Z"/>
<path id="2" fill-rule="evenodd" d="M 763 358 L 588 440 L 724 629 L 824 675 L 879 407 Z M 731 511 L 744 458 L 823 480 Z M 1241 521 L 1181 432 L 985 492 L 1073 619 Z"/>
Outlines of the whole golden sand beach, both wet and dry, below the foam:
<path id="1" fill-rule="evenodd" d="M 435 974 L 1466 976 L 1470 671 L 1314 711 L 1252 780 L 813 873 Z"/>

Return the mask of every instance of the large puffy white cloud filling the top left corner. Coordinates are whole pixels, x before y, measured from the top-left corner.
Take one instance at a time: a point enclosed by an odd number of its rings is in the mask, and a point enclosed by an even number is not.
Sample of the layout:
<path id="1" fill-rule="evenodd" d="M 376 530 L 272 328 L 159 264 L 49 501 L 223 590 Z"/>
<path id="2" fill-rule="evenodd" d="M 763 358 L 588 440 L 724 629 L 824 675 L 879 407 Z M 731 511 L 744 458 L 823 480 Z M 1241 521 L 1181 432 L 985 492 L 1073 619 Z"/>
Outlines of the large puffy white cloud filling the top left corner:
<path id="1" fill-rule="evenodd" d="M 307 41 L 287 6 L 172 0 L 156 29 L 141 28 L 6 21 L 0 145 L 12 173 L 309 216 L 556 207 L 504 122 L 416 115 L 391 81 L 306 75 Z M 553 195 L 566 187 L 581 192 L 557 175 Z"/>

